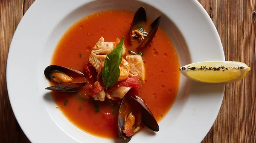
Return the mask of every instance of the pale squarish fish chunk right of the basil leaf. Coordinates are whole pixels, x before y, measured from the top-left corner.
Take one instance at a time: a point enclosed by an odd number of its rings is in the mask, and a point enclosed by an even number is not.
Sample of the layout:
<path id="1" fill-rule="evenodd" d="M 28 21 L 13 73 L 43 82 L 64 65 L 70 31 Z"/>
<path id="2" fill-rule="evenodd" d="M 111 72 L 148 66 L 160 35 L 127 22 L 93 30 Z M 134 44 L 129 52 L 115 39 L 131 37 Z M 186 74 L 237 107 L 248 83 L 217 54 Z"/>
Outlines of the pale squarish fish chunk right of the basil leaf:
<path id="1" fill-rule="evenodd" d="M 137 76 L 141 82 L 145 81 L 145 66 L 143 59 L 140 55 L 129 55 L 126 56 L 126 61 L 130 65 L 130 74 Z"/>

